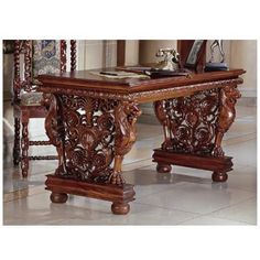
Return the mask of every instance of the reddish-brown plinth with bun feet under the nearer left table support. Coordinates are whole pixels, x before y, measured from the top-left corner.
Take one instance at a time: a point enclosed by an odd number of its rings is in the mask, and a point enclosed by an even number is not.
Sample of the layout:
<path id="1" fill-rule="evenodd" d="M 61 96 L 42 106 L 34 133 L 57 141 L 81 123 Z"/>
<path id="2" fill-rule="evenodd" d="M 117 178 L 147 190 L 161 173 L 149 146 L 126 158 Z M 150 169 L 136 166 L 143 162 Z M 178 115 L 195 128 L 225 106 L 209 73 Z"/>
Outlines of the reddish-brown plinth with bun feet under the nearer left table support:
<path id="1" fill-rule="evenodd" d="M 112 213 L 124 215 L 130 210 L 128 203 L 134 201 L 136 193 L 133 185 L 130 184 L 118 186 L 63 178 L 52 174 L 46 176 L 46 189 L 52 192 L 51 201 L 53 203 L 65 203 L 67 194 L 74 194 L 112 202 Z"/>

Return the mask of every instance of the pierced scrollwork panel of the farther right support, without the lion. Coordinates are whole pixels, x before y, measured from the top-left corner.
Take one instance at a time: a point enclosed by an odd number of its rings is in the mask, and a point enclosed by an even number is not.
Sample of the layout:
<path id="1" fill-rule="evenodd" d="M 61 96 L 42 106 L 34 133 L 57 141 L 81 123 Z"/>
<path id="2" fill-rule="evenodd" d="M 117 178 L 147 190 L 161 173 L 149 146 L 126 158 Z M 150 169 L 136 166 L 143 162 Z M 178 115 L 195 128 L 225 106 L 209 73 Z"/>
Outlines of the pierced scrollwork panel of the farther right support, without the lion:
<path id="1" fill-rule="evenodd" d="M 156 101 L 154 109 L 164 128 L 162 149 L 210 154 L 219 116 L 219 89 Z"/>

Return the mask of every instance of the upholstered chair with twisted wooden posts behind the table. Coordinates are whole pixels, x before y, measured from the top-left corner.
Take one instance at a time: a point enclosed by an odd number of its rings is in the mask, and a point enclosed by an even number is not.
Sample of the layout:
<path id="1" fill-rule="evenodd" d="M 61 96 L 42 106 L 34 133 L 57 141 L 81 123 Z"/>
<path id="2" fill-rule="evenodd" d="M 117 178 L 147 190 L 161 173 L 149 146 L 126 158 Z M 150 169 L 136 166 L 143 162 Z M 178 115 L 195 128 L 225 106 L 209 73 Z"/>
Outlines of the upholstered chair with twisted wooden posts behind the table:
<path id="1" fill-rule="evenodd" d="M 66 72 L 67 42 L 65 40 L 15 40 L 13 69 L 14 145 L 13 163 L 21 163 L 22 176 L 29 173 L 30 160 L 55 160 L 56 155 L 29 156 L 31 145 L 51 145 L 50 141 L 30 141 L 31 118 L 45 118 L 47 97 L 36 90 L 36 76 Z M 71 41 L 71 71 L 76 69 L 76 41 Z"/>

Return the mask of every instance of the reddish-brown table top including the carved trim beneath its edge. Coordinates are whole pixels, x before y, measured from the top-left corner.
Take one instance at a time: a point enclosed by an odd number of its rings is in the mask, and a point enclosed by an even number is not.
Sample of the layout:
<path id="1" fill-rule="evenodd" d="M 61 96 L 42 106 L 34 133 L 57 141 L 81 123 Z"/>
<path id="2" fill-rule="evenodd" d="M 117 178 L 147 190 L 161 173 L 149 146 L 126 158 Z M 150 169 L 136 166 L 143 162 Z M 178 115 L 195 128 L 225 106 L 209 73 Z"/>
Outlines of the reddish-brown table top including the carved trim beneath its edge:
<path id="1" fill-rule="evenodd" d="M 121 98 L 139 98 L 143 99 L 143 101 L 148 101 L 148 99 L 153 99 L 148 96 L 151 96 L 151 91 L 155 95 L 155 93 L 162 94 L 162 91 L 166 93 L 193 93 L 195 90 L 203 90 L 208 88 L 209 86 L 213 88 L 214 84 L 225 85 L 228 83 L 232 84 L 241 84 L 242 79 L 239 76 L 246 73 L 243 69 L 229 69 L 223 72 L 207 72 L 195 74 L 192 73 L 191 77 L 177 76 L 177 77 L 163 77 L 163 78 L 107 78 L 104 76 L 99 76 L 93 74 L 94 72 L 116 72 L 117 68 L 100 68 L 100 69 L 91 69 L 91 71 L 75 71 L 75 72 L 66 72 L 54 75 L 40 75 L 37 79 L 41 82 L 42 86 L 40 86 L 41 91 L 45 93 L 54 93 L 62 91 L 68 89 L 71 91 L 84 93 L 102 93 L 102 94 L 111 94 L 113 97 Z M 58 89 L 58 90 L 57 90 Z M 142 96 L 142 98 L 141 98 Z M 160 95 L 161 96 L 161 95 Z M 171 94 L 172 96 L 172 94 Z M 180 96 L 180 94 L 177 95 Z M 145 99 L 145 100 L 144 100 Z M 162 98 L 161 98 L 162 99 Z"/>

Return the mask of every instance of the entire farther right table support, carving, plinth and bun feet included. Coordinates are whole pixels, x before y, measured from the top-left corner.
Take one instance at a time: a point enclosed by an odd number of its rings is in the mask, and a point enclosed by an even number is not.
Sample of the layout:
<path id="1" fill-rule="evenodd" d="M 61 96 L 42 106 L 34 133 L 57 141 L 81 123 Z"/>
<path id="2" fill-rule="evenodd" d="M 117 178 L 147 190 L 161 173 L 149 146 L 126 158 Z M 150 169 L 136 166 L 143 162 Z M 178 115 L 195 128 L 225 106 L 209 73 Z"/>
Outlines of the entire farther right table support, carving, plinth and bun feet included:
<path id="1" fill-rule="evenodd" d="M 236 86 L 225 86 L 155 101 L 155 115 L 164 131 L 164 142 L 153 154 L 158 171 L 170 172 L 169 165 L 175 164 L 209 170 L 214 182 L 227 181 L 232 162 L 225 156 L 221 141 L 235 120 L 239 97 Z"/>

